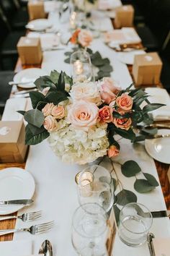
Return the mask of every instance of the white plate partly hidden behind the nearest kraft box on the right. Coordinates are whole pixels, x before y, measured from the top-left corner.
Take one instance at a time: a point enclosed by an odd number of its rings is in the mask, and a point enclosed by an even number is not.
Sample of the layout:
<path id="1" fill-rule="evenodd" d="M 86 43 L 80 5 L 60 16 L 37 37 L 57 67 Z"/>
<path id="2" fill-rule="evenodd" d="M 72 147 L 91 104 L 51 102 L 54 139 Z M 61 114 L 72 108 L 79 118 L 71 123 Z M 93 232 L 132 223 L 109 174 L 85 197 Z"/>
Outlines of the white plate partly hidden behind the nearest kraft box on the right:
<path id="1" fill-rule="evenodd" d="M 130 51 L 130 52 L 120 52 L 120 53 L 117 53 L 117 59 L 119 59 L 121 62 L 125 64 L 133 65 L 135 55 L 140 55 L 140 54 L 146 54 L 146 51 L 136 50 L 136 51 Z"/>

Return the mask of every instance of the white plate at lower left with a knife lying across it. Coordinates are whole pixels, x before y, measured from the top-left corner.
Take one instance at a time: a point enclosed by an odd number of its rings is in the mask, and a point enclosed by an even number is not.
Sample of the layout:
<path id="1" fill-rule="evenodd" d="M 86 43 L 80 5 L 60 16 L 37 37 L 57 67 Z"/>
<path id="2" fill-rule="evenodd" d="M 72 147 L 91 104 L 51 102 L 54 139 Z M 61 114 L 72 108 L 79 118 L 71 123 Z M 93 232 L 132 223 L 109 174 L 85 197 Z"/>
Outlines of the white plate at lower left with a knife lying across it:
<path id="1" fill-rule="evenodd" d="M 0 200 L 31 199 L 35 180 L 28 171 L 11 167 L 0 171 Z M 24 205 L 0 205 L 0 215 L 14 213 Z"/>

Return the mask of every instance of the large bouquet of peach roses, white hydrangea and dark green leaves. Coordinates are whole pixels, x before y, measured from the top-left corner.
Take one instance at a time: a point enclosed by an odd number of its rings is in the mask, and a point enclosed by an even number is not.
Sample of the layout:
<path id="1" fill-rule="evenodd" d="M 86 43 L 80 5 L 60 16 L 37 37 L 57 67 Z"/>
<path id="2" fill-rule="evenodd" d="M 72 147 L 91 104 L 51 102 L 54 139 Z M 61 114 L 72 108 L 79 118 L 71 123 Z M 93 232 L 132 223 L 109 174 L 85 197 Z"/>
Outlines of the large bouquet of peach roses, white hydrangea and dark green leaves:
<path id="1" fill-rule="evenodd" d="M 109 77 L 73 84 L 66 73 L 53 71 L 35 85 L 40 91 L 30 93 L 33 109 L 19 111 L 28 123 L 25 142 L 35 145 L 48 137 L 55 154 L 67 163 L 118 155 L 115 135 L 134 142 L 133 127 L 150 120 L 148 111 L 162 106 L 147 103 L 142 109 L 148 97 L 143 90 L 131 90 L 132 85 L 122 90 Z"/>

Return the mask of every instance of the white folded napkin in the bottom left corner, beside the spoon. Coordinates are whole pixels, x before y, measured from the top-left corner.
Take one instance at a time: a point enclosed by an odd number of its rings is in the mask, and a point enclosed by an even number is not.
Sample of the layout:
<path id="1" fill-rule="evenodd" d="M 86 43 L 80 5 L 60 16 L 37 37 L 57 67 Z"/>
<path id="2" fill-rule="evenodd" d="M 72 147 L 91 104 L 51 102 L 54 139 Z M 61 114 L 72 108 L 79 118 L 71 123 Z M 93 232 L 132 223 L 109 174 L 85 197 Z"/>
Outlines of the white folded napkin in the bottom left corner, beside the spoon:
<path id="1" fill-rule="evenodd" d="M 1 256 L 26 256 L 32 254 L 32 241 L 17 240 L 0 242 Z"/>

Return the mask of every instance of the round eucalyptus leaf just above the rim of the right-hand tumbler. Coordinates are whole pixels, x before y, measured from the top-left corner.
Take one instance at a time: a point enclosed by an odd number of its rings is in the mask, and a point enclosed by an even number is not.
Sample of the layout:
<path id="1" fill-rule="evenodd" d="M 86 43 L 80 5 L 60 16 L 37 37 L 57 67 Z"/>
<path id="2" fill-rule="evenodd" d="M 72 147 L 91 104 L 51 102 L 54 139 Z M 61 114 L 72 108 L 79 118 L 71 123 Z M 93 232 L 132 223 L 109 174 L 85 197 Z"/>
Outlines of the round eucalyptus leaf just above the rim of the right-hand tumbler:
<path id="1" fill-rule="evenodd" d="M 130 190 L 122 189 L 117 194 L 117 204 L 127 205 L 129 202 L 137 202 L 136 195 Z"/>

